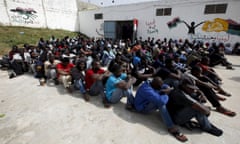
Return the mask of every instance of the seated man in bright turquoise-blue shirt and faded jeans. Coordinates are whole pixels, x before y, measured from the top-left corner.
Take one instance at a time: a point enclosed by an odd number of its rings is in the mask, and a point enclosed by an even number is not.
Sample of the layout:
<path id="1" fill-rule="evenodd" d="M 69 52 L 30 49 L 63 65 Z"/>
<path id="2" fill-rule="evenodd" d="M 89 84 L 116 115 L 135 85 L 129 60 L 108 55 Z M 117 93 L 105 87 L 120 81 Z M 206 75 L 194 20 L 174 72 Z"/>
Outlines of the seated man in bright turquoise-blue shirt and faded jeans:
<path id="1" fill-rule="evenodd" d="M 112 66 L 112 75 L 109 76 L 106 82 L 106 97 L 110 103 L 118 103 L 123 96 L 127 97 L 127 107 L 131 108 L 133 104 L 132 84 L 136 81 L 135 78 L 127 77 L 123 73 L 122 66 L 115 64 Z"/>

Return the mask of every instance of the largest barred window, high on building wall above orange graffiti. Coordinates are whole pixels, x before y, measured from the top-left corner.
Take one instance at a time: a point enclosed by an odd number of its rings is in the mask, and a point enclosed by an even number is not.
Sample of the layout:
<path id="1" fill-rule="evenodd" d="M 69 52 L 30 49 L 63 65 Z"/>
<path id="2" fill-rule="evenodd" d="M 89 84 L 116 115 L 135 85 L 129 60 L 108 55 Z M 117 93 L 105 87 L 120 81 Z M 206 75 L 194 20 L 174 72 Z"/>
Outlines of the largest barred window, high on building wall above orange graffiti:
<path id="1" fill-rule="evenodd" d="M 206 5 L 204 14 L 222 14 L 226 13 L 227 4 Z"/>

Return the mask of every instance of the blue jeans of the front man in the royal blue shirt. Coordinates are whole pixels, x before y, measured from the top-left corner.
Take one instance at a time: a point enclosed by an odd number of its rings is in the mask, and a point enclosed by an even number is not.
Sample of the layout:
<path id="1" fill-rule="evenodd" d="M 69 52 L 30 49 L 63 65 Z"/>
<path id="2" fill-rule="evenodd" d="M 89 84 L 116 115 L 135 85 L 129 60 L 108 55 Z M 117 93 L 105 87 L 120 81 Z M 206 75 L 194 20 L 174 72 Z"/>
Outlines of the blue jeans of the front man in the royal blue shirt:
<path id="1" fill-rule="evenodd" d="M 149 103 L 142 112 L 149 113 L 149 112 L 155 111 L 157 109 L 159 110 L 161 118 L 162 118 L 164 124 L 167 126 L 167 128 L 172 128 L 174 126 L 174 123 L 172 121 L 171 116 L 168 113 L 166 105 L 156 106 L 153 103 Z"/>

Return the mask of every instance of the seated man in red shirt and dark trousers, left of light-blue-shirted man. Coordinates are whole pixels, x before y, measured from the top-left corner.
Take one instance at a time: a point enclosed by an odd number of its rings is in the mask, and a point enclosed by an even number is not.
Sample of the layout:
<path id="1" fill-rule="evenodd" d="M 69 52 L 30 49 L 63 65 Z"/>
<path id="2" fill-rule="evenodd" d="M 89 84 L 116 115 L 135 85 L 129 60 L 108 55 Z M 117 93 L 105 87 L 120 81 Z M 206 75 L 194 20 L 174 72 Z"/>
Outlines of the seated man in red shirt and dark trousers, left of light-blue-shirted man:
<path id="1" fill-rule="evenodd" d="M 105 107 L 110 105 L 107 103 L 106 96 L 104 93 L 103 81 L 110 75 L 109 71 L 105 71 L 101 68 L 100 61 L 95 59 L 92 62 L 92 68 L 86 71 L 85 82 L 86 90 L 91 96 L 101 95 L 103 104 Z"/>

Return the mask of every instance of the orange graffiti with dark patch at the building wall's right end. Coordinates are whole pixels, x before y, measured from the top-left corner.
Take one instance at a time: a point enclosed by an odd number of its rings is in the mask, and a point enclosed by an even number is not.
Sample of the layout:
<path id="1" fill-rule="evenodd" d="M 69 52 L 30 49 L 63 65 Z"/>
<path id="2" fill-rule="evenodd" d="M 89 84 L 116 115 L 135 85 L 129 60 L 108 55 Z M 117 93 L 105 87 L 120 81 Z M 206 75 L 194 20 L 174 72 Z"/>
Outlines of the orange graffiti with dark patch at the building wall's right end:
<path id="1" fill-rule="evenodd" d="M 231 19 L 215 18 L 213 21 L 206 21 L 202 30 L 205 32 L 226 32 L 240 36 L 240 24 Z"/>

